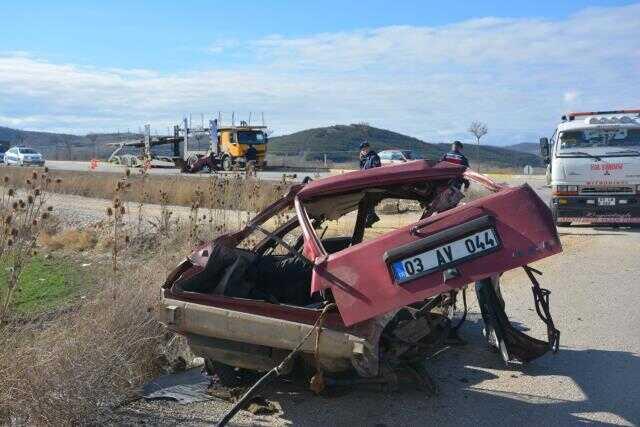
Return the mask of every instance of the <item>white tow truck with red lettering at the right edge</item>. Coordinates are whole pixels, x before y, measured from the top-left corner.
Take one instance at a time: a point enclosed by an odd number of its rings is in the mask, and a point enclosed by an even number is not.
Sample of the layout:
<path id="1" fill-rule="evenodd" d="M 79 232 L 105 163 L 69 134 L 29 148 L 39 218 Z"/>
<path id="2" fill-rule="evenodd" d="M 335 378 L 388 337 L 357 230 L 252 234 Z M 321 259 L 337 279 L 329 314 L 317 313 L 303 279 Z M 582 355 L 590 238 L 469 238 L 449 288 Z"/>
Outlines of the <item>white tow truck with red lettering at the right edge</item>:
<path id="1" fill-rule="evenodd" d="M 640 223 L 640 110 L 567 113 L 540 152 L 557 225 Z"/>

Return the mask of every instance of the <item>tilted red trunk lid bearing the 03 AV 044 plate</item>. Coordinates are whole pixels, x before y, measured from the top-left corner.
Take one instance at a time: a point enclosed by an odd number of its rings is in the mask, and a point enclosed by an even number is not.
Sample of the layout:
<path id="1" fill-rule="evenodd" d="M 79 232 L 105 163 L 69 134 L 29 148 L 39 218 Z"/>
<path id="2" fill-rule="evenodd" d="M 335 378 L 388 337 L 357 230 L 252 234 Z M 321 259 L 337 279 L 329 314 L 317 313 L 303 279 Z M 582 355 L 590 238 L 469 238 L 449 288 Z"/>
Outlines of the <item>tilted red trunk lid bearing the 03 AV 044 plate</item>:
<path id="1" fill-rule="evenodd" d="M 312 291 L 331 289 L 351 325 L 561 250 L 549 209 L 524 185 L 316 257 Z"/>

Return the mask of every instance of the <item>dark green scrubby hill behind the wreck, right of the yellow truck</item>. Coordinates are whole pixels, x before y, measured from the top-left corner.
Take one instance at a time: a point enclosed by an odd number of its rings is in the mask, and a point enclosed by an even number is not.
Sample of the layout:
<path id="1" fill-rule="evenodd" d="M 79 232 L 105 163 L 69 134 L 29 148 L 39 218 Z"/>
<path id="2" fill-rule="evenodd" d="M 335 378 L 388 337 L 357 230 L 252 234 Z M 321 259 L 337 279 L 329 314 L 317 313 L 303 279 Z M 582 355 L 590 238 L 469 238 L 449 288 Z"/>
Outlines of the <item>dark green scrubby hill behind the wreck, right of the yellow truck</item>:
<path id="1" fill-rule="evenodd" d="M 326 154 L 328 160 L 349 162 L 357 158 L 358 146 L 364 140 L 369 141 L 376 151 L 393 148 L 412 150 L 417 157 L 426 159 L 439 159 L 450 148 L 449 144 L 427 143 L 390 130 L 352 124 L 307 129 L 290 135 L 272 137 L 269 153 L 298 154 L 307 160 L 322 160 Z M 465 153 L 473 163 L 476 147 L 467 144 Z M 480 146 L 480 159 L 482 164 L 497 167 L 542 166 L 542 159 L 537 155 L 491 145 Z"/>

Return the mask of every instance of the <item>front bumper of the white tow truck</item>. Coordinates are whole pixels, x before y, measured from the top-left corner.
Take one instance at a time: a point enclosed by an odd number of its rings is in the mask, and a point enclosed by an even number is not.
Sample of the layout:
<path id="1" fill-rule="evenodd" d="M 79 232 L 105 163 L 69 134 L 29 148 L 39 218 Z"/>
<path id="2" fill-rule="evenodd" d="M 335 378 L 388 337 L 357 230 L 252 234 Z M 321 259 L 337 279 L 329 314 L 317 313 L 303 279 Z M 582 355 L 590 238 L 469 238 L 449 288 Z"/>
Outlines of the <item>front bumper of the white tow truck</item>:
<path id="1" fill-rule="evenodd" d="M 602 199 L 608 199 L 604 204 Z M 588 224 L 640 223 L 640 195 L 554 196 L 558 222 Z"/>

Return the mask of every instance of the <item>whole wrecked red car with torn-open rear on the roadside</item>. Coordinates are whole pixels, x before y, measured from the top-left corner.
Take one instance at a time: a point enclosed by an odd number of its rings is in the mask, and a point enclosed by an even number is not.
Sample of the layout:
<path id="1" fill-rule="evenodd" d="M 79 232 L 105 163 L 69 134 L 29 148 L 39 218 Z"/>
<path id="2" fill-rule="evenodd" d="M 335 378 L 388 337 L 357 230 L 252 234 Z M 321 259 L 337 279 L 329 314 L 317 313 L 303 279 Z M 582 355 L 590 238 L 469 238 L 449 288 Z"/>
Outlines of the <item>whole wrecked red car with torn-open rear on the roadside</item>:
<path id="1" fill-rule="evenodd" d="M 467 179 L 493 193 L 460 203 Z M 366 228 L 385 204 L 404 213 Z M 457 321 L 456 304 L 475 283 L 487 340 L 522 363 L 558 348 L 549 292 L 527 264 L 561 251 L 549 209 L 526 184 L 424 160 L 350 172 L 293 185 L 244 229 L 198 248 L 164 283 L 162 322 L 221 378 L 269 371 L 299 346 L 298 361 L 327 376 L 377 380 L 454 339 L 466 298 Z M 520 267 L 546 341 L 505 314 L 499 278 Z"/>

